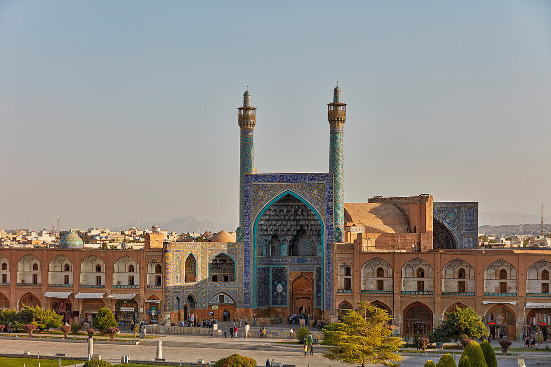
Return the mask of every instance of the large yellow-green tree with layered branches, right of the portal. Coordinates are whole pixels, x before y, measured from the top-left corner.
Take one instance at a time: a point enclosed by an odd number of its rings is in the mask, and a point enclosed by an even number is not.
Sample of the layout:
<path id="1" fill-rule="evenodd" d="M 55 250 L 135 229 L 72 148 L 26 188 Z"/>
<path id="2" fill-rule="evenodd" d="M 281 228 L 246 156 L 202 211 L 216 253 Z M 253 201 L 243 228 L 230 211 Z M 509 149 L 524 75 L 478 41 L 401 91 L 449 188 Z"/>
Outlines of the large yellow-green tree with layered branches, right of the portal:
<path id="1" fill-rule="evenodd" d="M 323 357 L 342 363 L 382 364 L 392 366 L 402 360 L 397 354 L 403 341 L 392 337 L 391 316 L 369 301 L 360 301 L 341 322 L 331 322 L 323 329 L 325 346 L 332 347 Z"/>

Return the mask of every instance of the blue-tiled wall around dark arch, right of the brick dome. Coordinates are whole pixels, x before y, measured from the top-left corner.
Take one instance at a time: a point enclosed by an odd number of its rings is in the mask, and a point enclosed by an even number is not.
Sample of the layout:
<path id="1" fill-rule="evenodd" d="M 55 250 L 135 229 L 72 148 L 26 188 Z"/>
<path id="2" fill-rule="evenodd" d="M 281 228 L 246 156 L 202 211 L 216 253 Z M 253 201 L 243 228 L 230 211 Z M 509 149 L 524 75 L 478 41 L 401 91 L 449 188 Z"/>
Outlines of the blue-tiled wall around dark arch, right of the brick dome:
<path id="1" fill-rule="evenodd" d="M 450 229 L 458 249 L 473 249 L 478 236 L 477 202 L 433 202 L 433 215 Z"/>

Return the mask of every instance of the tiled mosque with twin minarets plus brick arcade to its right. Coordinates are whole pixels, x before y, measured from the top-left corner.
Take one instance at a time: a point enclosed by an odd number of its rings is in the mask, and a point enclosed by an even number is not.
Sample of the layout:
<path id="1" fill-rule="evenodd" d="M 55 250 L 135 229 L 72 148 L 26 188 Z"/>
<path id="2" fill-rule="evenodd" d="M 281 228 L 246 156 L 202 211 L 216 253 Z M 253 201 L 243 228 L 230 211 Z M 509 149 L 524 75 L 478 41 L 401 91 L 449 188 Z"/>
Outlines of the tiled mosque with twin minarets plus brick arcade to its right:
<path id="1" fill-rule="evenodd" d="M 338 86 L 327 106 L 328 172 L 262 174 L 245 92 L 237 238 L 165 242 L 165 325 L 189 315 L 331 321 L 364 299 L 390 312 L 404 335 L 426 334 L 455 306 L 473 307 L 490 332 L 511 337 L 530 321 L 551 323 L 551 303 L 541 303 L 549 253 L 478 249 L 477 202 L 422 194 L 344 203 L 347 105 Z"/>

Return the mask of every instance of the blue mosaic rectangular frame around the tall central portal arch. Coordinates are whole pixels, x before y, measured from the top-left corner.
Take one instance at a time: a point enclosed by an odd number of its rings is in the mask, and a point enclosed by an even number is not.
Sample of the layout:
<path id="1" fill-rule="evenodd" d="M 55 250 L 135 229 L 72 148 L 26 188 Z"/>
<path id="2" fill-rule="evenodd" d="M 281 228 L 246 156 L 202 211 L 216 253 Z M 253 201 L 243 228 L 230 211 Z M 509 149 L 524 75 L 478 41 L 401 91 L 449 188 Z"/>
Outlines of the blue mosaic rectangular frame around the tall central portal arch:
<path id="1" fill-rule="evenodd" d="M 253 186 L 261 184 L 263 190 L 256 190 L 253 195 Z M 320 190 L 312 189 L 312 185 L 323 184 Z M 319 185 L 318 185 L 319 186 Z M 274 193 L 270 191 L 274 188 Z M 266 190 L 270 194 L 266 194 Z M 256 174 L 245 175 L 245 224 L 244 229 L 244 307 L 256 306 L 256 256 L 253 257 L 253 224 L 262 207 L 269 205 L 272 199 L 278 197 L 285 191 L 292 191 L 311 204 L 322 217 L 324 267 L 322 268 L 323 279 L 323 310 L 332 310 L 333 294 L 333 262 L 331 243 L 333 242 L 333 174 Z M 262 195 L 260 193 L 262 192 Z M 321 195 L 320 195 L 321 194 Z M 260 204 L 263 202 L 264 204 Z M 255 215 L 253 215 L 255 213 Z M 255 296 L 253 297 L 253 293 Z"/>

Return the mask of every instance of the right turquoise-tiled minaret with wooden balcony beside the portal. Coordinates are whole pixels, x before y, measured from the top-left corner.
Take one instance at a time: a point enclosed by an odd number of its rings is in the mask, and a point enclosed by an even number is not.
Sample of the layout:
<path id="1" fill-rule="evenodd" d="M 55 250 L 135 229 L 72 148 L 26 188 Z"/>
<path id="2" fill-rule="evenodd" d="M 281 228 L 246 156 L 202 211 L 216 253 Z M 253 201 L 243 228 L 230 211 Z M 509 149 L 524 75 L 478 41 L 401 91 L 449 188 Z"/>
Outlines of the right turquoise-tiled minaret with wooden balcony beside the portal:
<path id="1" fill-rule="evenodd" d="M 341 102 L 341 88 L 333 89 L 333 103 L 327 104 L 329 121 L 329 172 L 333 172 L 334 226 L 344 230 L 344 153 L 343 137 L 346 104 Z"/>

